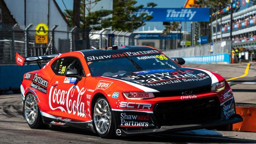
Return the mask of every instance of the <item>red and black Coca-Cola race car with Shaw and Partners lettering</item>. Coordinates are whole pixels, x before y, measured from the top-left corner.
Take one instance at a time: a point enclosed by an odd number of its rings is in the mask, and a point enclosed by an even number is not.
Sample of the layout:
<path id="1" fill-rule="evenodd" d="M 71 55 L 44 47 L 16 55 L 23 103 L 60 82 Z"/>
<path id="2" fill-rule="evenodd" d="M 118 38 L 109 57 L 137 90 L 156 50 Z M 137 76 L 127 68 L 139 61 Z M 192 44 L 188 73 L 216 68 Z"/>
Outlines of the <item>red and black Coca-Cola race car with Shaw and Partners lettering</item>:
<path id="1" fill-rule="evenodd" d="M 22 57 L 39 70 L 20 85 L 31 128 L 72 126 L 102 138 L 187 131 L 241 122 L 232 90 L 219 74 L 183 67 L 149 46 L 112 46 Z M 44 66 L 41 60 L 50 59 Z"/>

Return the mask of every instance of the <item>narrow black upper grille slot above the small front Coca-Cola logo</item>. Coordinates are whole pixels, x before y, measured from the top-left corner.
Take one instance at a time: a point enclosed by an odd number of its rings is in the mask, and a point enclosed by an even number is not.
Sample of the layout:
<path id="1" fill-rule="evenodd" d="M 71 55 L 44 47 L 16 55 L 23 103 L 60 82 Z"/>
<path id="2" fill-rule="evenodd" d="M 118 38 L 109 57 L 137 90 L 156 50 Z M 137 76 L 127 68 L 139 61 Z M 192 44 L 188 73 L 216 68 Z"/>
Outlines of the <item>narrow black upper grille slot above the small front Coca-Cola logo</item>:
<path id="1" fill-rule="evenodd" d="M 211 87 L 201 87 L 197 89 L 187 89 L 187 90 L 175 90 L 175 91 L 168 91 L 168 92 L 154 92 L 155 97 L 165 97 L 165 96 L 181 96 L 182 92 L 184 91 L 192 91 L 191 94 L 198 94 L 201 92 L 210 91 Z"/>

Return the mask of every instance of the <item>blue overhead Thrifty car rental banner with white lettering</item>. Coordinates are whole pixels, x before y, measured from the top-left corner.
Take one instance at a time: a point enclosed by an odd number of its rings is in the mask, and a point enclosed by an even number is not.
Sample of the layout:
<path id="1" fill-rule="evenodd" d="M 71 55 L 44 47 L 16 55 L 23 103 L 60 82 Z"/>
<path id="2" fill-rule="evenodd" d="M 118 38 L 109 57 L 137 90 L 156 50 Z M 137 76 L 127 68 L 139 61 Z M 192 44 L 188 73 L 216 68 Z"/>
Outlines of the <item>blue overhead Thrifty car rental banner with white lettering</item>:
<path id="1" fill-rule="evenodd" d="M 142 13 L 147 13 L 153 18 L 150 22 L 208 22 L 209 8 L 141 8 L 135 15 L 139 17 Z"/>

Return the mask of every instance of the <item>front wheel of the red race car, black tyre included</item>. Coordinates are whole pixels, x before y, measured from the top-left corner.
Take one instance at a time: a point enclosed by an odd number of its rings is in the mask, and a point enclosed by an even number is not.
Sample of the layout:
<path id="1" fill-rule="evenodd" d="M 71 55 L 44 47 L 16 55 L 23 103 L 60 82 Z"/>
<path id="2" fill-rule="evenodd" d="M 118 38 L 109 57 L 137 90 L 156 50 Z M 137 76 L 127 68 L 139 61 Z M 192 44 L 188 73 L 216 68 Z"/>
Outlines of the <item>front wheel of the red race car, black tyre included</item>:
<path id="1" fill-rule="evenodd" d="M 102 138 L 114 136 L 114 122 L 111 107 L 106 98 L 98 98 L 93 111 L 95 130 Z"/>

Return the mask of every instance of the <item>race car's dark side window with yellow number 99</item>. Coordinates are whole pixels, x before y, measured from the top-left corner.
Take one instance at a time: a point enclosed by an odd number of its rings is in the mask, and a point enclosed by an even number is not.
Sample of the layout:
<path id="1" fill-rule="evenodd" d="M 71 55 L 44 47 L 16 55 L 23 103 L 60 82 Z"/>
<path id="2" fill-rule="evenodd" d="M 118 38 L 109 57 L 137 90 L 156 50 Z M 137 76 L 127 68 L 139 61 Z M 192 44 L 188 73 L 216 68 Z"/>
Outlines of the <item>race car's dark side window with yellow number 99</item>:
<path id="1" fill-rule="evenodd" d="M 75 57 L 62 57 L 52 63 L 52 70 L 57 75 L 64 76 L 67 70 L 77 69 L 80 76 L 85 76 L 83 66 Z"/>

